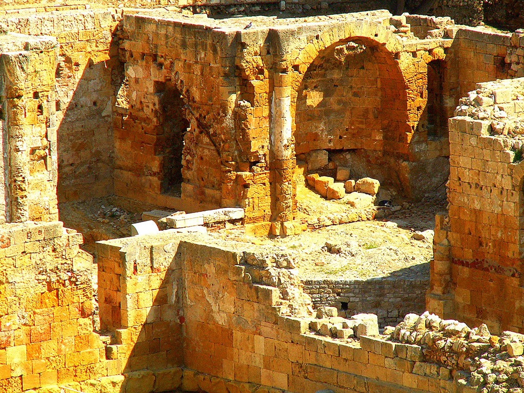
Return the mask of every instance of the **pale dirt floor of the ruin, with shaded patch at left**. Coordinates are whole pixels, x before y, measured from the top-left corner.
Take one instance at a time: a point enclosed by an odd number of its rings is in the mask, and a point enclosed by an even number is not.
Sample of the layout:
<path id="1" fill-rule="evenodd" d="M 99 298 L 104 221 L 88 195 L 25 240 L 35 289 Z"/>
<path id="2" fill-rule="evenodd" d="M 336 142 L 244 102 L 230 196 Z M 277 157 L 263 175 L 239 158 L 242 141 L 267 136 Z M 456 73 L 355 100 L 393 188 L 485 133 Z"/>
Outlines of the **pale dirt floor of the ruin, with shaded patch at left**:
<path id="1" fill-rule="evenodd" d="M 310 195 L 310 198 L 316 197 Z M 320 198 L 310 202 L 310 206 L 316 206 L 314 211 L 308 211 L 310 214 L 346 209 L 341 203 Z M 131 224 L 141 221 L 142 212 L 161 209 L 115 196 L 61 203 L 59 208 L 64 226 L 84 235 L 83 248 L 90 253 L 94 251 L 95 241 L 130 236 Z M 333 225 L 285 238 L 246 236 L 241 227 L 219 233 L 225 239 L 273 245 L 297 253 L 303 279 L 367 279 L 390 275 L 427 278 L 432 257 L 431 233 L 424 232 L 420 240 L 412 236 L 416 231 L 433 230 L 435 214 L 444 208 L 443 200 L 425 200 L 405 204 L 405 208 L 383 220 Z"/>

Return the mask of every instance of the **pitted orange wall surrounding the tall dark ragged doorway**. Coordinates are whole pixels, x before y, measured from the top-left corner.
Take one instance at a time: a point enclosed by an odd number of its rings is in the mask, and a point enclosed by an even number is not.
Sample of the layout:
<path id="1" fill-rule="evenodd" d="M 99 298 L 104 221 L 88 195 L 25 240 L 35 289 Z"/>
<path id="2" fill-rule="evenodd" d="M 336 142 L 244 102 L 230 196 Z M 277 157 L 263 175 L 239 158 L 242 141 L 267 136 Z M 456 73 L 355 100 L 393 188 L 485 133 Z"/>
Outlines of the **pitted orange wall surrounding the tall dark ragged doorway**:
<path id="1" fill-rule="evenodd" d="M 226 119 L 217 117 L 224 101 L 227 104 L 220 81 L 223 70 L 232 64 L 222 62 L 225 54 L 212 41 L 212 30 L 203 26 L 126 15 L 124 29 L 129 37 L 125 42 L 129 104 L 115 123 L 115 192 L 162 206 L 179 206 L 176 194 L 162 190 L 164 161 L 177 159 L 182 162 L 181 196 L 187 209 L 191 205 L 193 210 L 219 206 L 227 156 L 224 149 L 228 149 L 224 140 L 229 134 Z M 189 131 L 177 134 L 184 141 L 178 157 L 166 155 L 170 144 L 180 141 L 167 138 L 162 124 L 165 116 L 160 112 L 161 95 L 169 84 L 183 95 L 179 105 L 169 110 L 189 124 Z M 189 108 L 184 108 L 188 102 Z"/>

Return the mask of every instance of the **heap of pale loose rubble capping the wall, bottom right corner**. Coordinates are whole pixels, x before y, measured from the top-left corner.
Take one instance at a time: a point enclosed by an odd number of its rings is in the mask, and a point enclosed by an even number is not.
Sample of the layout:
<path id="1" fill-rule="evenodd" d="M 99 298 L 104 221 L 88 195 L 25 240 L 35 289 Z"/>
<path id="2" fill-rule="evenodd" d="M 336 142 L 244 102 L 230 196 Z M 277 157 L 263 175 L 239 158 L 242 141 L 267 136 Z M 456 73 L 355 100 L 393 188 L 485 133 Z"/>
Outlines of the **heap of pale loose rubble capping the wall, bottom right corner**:
<path id="1" fill-rule="evenodd" d="M 425 312 L 408 314 L 395 328 L 384 331 L 393 341 L 423 348 L 425 362 L 452 370 L 452 376 L 482 393 L 524 391 L 524 335 L 489 333 L 485 324 L 471 329 L 465 323 L 443 320 Z M 428 375 L 431 367 L 418 366 L 414 373 Z"/>

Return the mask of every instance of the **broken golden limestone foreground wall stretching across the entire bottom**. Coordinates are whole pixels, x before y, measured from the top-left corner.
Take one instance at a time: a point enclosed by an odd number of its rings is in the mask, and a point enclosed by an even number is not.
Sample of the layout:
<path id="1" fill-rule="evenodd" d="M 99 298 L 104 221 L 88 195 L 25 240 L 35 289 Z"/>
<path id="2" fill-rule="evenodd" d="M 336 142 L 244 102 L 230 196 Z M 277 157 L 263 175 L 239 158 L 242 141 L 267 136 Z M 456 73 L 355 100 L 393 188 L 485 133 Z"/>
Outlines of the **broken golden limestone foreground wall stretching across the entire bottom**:
<path id="1" fill-rule="evenodd" d="M 3 391 L 444 393 L 518 384 L 511 367 L 520 336 L 499 341 L 486 328 L 470 333 L 429 314 L 411 314 L 384 336 L 318 335 L 311 323 L 328 319 L 313 316 L 285 256 L 267 259 L 266 250 L 210 235 L 164 231 L 100 242 L 100 335 L 79 236 L 56 222 L 5 227 Z M 351 322 L 337 323 L 344 321 Z M 446 340 L 449 356 L 439 352 Z M 462 342 L 473 351 L 467 364 L 451 350 Z M 475 351 L 489 348 L 489 359 L 506 356 L 497 372 L 507 378 L 478 382 L 472 370 L 487 366 Z"/>

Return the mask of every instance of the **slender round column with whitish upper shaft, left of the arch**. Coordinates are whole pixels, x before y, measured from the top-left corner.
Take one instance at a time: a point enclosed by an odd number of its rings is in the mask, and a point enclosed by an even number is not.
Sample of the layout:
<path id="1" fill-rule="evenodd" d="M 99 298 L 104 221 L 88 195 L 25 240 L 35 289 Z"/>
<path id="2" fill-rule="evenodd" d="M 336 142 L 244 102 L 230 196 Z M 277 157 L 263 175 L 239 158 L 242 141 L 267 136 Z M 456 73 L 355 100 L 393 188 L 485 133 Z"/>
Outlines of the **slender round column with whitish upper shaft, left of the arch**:
<path id="1" fill-rule="evenodd" d="M 289 75 L 278 73 L 271 100 L 270 151 L 276 221 L 293 219 L 294 144 L 291 130 L 291 86 Z"/>

